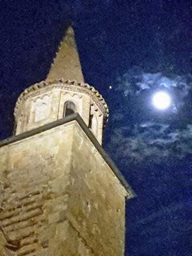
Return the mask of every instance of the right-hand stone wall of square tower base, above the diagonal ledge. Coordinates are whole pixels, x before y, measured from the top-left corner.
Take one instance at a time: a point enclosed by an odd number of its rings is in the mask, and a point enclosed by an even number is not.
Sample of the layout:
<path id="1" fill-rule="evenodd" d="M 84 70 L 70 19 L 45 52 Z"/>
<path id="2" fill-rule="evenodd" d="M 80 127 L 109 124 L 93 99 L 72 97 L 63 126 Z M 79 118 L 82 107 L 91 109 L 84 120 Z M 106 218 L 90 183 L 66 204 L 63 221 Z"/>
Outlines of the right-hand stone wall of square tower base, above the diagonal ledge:
<path id="1" fill-rule="evenodd" d="M 81 230 L 96 255 L 123 255 L 125 189 L 79 125 L 71 161 L 69 220 Z"/>

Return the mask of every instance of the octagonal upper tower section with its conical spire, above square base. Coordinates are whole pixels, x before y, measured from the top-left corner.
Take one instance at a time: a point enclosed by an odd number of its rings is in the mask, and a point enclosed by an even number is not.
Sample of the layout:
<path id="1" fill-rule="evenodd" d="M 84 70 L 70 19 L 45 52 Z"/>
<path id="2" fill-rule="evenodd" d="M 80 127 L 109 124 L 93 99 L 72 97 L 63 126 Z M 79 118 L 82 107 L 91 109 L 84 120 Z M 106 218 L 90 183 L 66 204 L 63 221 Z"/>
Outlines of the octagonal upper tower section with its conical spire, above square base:
<path id="1" fill-rule="evenodd" d="M 15 106 L 15 134 L 79 113 L 99 143 L 108 118 L 108 106 L 93 86 L 84 83 L 71 27 L 45 81 L 26 88 Z"/>

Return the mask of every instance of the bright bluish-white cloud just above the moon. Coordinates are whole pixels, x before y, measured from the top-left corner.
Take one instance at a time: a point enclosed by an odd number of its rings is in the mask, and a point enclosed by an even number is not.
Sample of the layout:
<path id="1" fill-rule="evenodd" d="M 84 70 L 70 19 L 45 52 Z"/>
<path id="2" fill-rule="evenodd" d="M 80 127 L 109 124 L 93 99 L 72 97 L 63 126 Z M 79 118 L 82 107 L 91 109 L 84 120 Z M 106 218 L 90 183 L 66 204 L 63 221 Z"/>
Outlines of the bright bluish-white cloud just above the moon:
<path id="1" fill-rule="evenodd" d="M 189 93 L 191 78 L 191 75 L 170 78 L 163 76 L 161 72 L 152 74 L 132 68 L 123 76 L 118 76 L 115 90 L 122 92 L 124 97 L 140 97 L 143 92 L 164 90 L 170 93 L 173 99 L 172 112 L 177 112 L 184 104 L 184 97 Z"/>

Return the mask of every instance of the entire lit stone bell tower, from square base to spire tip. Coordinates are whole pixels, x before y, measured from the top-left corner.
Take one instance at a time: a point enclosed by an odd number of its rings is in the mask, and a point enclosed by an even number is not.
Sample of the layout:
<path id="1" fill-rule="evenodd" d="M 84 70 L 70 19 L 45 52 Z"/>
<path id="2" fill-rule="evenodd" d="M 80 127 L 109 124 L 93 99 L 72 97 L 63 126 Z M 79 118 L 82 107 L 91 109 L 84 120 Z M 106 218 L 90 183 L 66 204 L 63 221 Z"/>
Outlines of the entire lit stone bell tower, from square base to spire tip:
<path id="1" fill-rule="evenodd" d="M 0 142 L 0 255 L 123 256 L 134 193 L 101 147 L 108 106 L 84 83 L 69 27 Z"/>

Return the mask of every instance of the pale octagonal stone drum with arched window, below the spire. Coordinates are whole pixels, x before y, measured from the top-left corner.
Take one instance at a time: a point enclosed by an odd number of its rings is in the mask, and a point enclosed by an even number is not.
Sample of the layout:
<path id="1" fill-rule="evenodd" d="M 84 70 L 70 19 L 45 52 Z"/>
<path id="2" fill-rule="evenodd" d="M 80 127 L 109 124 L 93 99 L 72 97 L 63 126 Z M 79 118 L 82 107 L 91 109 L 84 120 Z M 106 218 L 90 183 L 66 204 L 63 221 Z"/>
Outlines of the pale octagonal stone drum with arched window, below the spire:
<path id="1" fill-rule="evenodd" d="M 106 113 L 103 104 L 98 104 L 99 100 L 95 93 L 84 86 L 62 81 L 59 84 L 51 83 L 38 90 L 32 90 L 22 97 L 19 108 L 15 112 L 15 124 L 17 124 L 15 134 L 63 118 L 65 103 L 68 101 L 75 104 L 76 113 L 79 113 L 86 125 L 89 125 L 90 116 L 93 116 L 90 129 L 101 144 Z"/>

